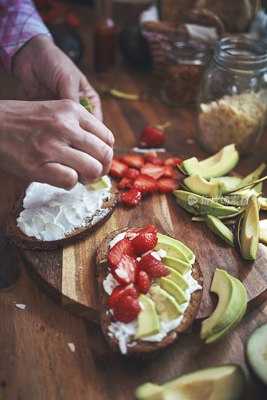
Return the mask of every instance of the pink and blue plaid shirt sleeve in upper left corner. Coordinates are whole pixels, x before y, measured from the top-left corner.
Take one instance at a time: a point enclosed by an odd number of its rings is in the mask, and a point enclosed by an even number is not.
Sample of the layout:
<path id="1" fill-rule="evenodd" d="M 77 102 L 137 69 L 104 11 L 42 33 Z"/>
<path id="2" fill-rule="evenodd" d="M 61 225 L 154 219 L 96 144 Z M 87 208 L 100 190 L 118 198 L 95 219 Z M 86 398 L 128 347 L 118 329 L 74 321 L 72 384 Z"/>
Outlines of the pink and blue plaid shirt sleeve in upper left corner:
<path id="1" fill-rule="evenodd" d="M 0 63 L 9 73 L 12 56 L 37 34 L 52 38 L 31 0 L 0 0 Z"/>

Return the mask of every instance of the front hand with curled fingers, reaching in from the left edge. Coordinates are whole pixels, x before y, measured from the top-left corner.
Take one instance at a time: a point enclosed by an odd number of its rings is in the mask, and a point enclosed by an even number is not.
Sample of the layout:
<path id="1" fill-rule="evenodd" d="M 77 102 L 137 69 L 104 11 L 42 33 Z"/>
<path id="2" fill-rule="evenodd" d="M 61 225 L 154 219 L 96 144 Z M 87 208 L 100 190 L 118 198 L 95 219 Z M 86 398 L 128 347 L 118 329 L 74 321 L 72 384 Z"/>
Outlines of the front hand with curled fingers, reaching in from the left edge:
<path id="1" fill-rule="evenodd" d="M 70 189 L 108 172 L 114 137 L 72 100 L 0 101 L 0 169 Z"/>

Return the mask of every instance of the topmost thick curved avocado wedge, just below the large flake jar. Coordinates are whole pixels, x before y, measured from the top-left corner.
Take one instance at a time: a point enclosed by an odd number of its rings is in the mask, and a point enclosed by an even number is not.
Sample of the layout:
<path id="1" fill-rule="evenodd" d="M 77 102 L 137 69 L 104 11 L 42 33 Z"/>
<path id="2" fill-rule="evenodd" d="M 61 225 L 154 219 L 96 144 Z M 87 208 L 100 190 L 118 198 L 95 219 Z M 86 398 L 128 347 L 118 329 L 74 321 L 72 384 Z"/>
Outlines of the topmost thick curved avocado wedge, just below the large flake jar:
<path id="1" fill-rule="evenodd" d="M 238 161 L 238 152 L 235 145 L 228 144 L 221 148 L 216 154 L 198 161 L 196 157 L 188 158 L 181 164 L 181 168 L 192 175 L 199 173 L 203 178 L 222 176 L 228 173 Z"/>

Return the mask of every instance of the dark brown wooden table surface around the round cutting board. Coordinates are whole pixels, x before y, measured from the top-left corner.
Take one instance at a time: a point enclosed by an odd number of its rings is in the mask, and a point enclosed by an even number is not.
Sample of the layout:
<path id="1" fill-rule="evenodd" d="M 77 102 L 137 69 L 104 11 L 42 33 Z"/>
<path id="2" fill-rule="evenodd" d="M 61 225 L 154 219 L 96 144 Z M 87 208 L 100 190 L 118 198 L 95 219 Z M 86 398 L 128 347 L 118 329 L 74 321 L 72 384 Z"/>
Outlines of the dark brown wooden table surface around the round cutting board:
<path id="1" fill-rule="evenodd" d="M 110 85 L 129 92 L 156 87 L 150 71 L 124 65 L 97 76 L 91 68 L 92 10 L 75 6 L 82 19 L 84 40 L 81 70 L 95 86 Z M 155 90 L 153 90 L 155 92 Z M 156 93 L 155 93 L 156 94 Z M 0 99 L 23 99 L 15 80 L 0 71 Z M 104 122 L 115 145 L 132 147 L 147 123 L 171 121 L 166 149 L 181 157 L 207 154 L 195 142 L 195 112 L 166 106 L 152 95 L 150 102 L 102 100 Z M 247 174 L 266 161 L 263 132 L 253 154 L 235 168 Z M 3 242 L 7 215 L 26 181 L 0 172 L 0 399 L 1 400 L 130 400 L 135 387 L 147 380 L 164 382 L 197 368 L 239 364 L 246 376 L 243 400 L 266 398 L 253 382 L 244 359 L 249 334 L 267 320 L 267 302 L 250 312 L 224 339 L 204 345 L 199 334 L 184 335 L 152 359 L 127 359 L 108 348 L 100 327 L 64 310 L 27 275 L 17 251 Z M 265 192 L 266 192 L 265 188 Z M 15 303 L 26 304 L 19 309 Z M 70 351 L 67 343 L 74 343 Z M 184 348 L 186 347 L 186 352 Z M 266 394 L 266 393 L 265 393 Z"/>

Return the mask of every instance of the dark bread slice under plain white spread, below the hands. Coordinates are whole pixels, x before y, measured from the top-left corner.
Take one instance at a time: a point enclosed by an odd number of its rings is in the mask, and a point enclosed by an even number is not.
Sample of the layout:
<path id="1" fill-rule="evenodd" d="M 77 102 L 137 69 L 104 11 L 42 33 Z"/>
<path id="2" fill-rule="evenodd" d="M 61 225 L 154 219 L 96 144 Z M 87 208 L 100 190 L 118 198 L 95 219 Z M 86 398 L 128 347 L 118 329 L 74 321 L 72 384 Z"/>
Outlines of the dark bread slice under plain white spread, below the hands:
<path id="1" fill-rule="evenodd" d="M 116 183 L 113 179 L 111 179 L 111 189 L 110 189 L 110 197 L 108 199 L 104 199 L 101 209 L 106 209 L 106 213 L 102 216 L 99 216 L 99 219 L 95 220 L 94 223 L 90 223 L 92 218 L 98 214 L 100 211 L 96 211 L 90 218 L 86 218 L 85 226 L 81 228 L 75 228 L 73 232 L 66 234 L 66 236 L 62 239 L 44 241 L 36 239 L 35 237 L 27 236 L 19 227 L 16 225 L 16 218 L 19 217 L 20 212 L 23 208 L 23 198 L 25 195 L 25 191 L 21 194 L 18 200 L 14 203 L 13 208 L 9 214 L 7 220 L 7 236 L 9 240 L 16 244 L 18 247 L 27 248 L 31 250 L 41 249 L 41 250 L 52 250 L 58 246 L 65 246 L 70 243 L 75 243 L 76 241 L 84 238 L 88 234 L 92 233 L 95 229 L 101 226 L 112 214 L 114 211 L 117 199 L 118 199 L 118 190 L 116 187 Z"/>

